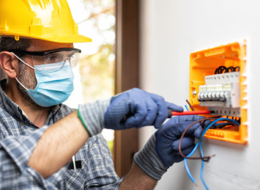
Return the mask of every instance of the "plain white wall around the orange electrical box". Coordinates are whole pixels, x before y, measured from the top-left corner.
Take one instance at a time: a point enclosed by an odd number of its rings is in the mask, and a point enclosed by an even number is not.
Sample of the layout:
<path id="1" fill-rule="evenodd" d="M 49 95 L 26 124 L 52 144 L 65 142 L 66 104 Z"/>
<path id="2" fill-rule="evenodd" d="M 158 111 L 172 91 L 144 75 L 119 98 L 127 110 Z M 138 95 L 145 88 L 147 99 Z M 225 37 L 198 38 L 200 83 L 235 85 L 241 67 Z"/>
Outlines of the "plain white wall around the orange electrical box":
<path id="1" fill-rule="evenodd" d="M 249 145 L 204 140 L 204 154 L 216 154 L 204 167 L 209 189 L 260 189 L 260 1 L 141 1 L 141 88 L 184 106 L 188 99 L 190 53 L 247 39 Z M 155 129 L 141 129 L 141 147 Z M 156 189 L 204 189 L 200 161 L 174 164 Z"/>

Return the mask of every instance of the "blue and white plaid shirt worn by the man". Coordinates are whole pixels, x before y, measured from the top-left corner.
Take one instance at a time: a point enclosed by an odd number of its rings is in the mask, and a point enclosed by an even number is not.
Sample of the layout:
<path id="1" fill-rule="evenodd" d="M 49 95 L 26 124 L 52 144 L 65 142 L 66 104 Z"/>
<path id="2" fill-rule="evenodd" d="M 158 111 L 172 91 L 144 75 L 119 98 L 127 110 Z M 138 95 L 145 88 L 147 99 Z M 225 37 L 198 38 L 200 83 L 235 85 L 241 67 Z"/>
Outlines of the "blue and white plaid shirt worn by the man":
<path id="1" fill-rule="evenodd" d="M 6 80 L 1 80 L 5 85 Z M 28 160 L 48 126 L 72 113 L 61 104 L 54 106 L 45 126 L 35 126 L 0 87 L 0 189 L 118 189 L 122 179 L 115 173 L 108 144 L 101 134 L 89 138 L 75 155 L 82 168 L 68 165 L 44 179 Z M 51 160 L 50 160 L 51 162 Z"/>

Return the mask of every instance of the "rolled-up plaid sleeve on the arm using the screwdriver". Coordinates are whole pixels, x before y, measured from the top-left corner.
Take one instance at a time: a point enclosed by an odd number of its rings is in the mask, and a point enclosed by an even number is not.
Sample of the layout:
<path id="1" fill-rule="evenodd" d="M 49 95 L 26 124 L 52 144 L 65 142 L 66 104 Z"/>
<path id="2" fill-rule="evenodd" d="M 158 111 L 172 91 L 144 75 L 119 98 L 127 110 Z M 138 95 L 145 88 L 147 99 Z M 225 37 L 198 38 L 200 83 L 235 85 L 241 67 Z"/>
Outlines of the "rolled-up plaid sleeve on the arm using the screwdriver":
<path id="1" fill-rule="evenodd" d="M 0 189 L 57 189 L 56 183 L 44 179 L 27 165 L 46 129 L 42 127 L 28 136 L 8 137 L 0 141 Z"/>

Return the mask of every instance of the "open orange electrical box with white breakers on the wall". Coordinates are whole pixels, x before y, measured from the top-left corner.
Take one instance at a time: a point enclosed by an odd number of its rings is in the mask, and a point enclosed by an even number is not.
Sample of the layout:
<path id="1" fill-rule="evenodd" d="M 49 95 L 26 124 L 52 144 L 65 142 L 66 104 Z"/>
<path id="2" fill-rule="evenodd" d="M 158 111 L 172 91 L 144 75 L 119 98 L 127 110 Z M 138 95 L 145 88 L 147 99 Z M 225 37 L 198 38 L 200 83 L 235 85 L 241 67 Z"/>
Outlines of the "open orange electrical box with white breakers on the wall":
<path id="1" fill-rule="evenodd" d="M 190 103 L 195 110 L 240 119 L 239 129 L 209 129 L 209 139 L 247 144 L 247 44 L 235 42 L 190 54 Z M 216 73 L 216 69 L 237 68 Z"/>

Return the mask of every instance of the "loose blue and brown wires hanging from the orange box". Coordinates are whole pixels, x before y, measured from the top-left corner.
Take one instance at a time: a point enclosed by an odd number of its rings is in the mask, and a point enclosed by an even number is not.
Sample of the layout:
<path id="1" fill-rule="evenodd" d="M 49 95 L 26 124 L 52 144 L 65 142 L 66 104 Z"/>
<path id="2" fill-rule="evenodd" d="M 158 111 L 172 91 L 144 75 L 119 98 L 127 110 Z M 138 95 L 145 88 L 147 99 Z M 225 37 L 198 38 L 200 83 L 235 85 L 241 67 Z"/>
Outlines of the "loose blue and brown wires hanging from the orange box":
<path id="1" fill-rule="evenodd" d="M 194 110 L 193 106 L 190 105 L 188 100 L 186 100 L 186 101 L 189 104 L 190 108 L 192 110 Z M 188 108 L 187 108 L 187 110 L 188 110 Z M 204 122 L 207 121 L 207 120 L 213 120 L 213 121 L 210 122 L 207 126 L 203 127 Z M 188 156 L 185 156 L 181 152 L 181 142 L 182 142 L 183 137 L 185 136 L 186 132 L 188 131 L 188 129 L 190 129 L 190 127 L 192 127 L 197 122 L 201 122 L 201 126 L 203 127 L 202 133 L 200 134 L 200 139 L 199 139 L 199 141 L 197 141 L 197 144 L 195 145 L 195 148 L 193 148 L 193 151 L 191 151 L 188 154 Z M 217 123 L 217 122 L 221 122 L 221 123 Z M 195 184 L 195 186 L 197 186 L 197 183 L 195 182 L 193 175 L 191 175 L 191 173 L 190 173 L 190 170 L 188 168 L 187 159 L 193 159 L 193 160 L 200 159 L 200 160 L 202 160 L 202 166 L 201 166 L 201 170 L 200 170 L 200 178 L 202 179 L 202 183 L 204 184 L 204 187 L 208 190 L 209 188 L 208 188 L 206 182 L 204 181 L 204 177 L 203 177 L 203 167 L 204 167 L 204 162 L 209 162 L 209 159 L 212 158 L 215 155 L 204 157 L 204 153 L 203 153 L 203 150 L 202 150 L 202 140 L 203 140 L 204 134 L 206 134 L 206 132 L 209 128 L 216 129 L 216 127 L 217 128 L 223 128 L 223 127 L 230 126 L 230 125 L 233 125 L 238 129 L 240 123 L 238 121 L 232 120 L 230 118 L 219 118 L 219 117 L 203 118 L 201 120 L 197 120 L 197 121 L 193 122 L 190 126 L 188 126 L 186 128 L 186 130 L 181 135 L 180 143 L 178 144 L 178 151 L 181 154 L 181 156 L 184 158 L 183 161 L 184 161 L 184 166 L 186 168 L 186 172 L 187 172 L 188 176 L 190 177 L 191 181 Z M 200 157 L 190 157 L 190 156 L 193 155 L 193 153 L 195 153 L 195 151 L 197 150 L 198 147 L 199 147 L 199 150 L 200 150 Z"/>

